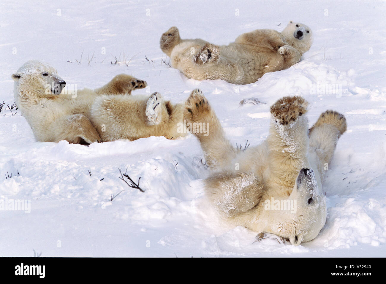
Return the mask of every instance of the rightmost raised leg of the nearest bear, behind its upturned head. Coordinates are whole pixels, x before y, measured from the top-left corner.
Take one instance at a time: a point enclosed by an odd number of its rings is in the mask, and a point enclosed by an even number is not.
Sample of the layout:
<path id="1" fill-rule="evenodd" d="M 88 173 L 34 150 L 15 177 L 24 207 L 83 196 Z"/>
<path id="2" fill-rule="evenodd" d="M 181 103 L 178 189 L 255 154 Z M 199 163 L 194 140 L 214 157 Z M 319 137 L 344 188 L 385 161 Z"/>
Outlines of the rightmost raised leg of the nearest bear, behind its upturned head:
<path id="1" fill-rule="evenodd" d="M 310 128 L 310 149 L 313 149 L 319 158 L 318 168 L 322 176 L 326 170 L 325 165 L 331 162 L 338 139 L 346 128 L 344 115 L 332 110 L 323 112 Z"/>

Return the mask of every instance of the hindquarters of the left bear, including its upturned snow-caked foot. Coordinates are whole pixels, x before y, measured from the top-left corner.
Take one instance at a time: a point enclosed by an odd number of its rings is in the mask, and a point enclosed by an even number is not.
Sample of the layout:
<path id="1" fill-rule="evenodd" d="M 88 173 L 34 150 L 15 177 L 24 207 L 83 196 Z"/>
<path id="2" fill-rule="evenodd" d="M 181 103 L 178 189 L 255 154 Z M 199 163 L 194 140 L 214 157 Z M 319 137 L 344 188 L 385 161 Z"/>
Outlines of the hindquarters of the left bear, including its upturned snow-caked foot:
<path id="1" fill-rule="evenodd" d="M 186 135 L 186 130 L 179 127 L 183 106 L 164 101 L 157 92 L 151 96 L 103 95 L 91 106 L 90 120 L 103 141 L 150 136 L 176 139 Z"/>

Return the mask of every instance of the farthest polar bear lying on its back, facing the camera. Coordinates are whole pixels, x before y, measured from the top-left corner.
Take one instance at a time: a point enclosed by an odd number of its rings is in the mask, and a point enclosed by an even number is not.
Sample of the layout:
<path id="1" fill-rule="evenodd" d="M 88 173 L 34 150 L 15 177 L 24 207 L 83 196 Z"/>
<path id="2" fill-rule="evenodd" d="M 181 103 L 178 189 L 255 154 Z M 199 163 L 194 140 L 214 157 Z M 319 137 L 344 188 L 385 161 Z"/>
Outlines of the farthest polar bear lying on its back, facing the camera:
<path id="1" fill-rule="evenodd" d="M 181 39 L 171 27 L 160 39 L 171 66 L 197 80 L 222 79 L 232 84 L 254 83 L 265 73 L 291 67 L 312 45 L 312 30 L 290 21 L 283 32 L 261 29 L 239 35 L 227 46 L 202 39 Z"/>

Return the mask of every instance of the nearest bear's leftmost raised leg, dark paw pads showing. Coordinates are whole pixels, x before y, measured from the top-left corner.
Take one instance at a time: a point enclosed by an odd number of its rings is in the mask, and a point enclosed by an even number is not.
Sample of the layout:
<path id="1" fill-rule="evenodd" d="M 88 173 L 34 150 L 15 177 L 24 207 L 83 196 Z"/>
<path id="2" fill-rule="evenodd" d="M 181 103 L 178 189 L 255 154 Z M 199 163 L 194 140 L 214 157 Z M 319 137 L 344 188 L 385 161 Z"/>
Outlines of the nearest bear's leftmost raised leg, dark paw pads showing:
<path id="1" fill-rule="evenodd" d="M 209 167 L 220 169 L 235 157 L 236 150 L 225 138 L 215 112 L 203 93 L 193 90 L 186 100 L 184 124 L 200 141 Z"/>

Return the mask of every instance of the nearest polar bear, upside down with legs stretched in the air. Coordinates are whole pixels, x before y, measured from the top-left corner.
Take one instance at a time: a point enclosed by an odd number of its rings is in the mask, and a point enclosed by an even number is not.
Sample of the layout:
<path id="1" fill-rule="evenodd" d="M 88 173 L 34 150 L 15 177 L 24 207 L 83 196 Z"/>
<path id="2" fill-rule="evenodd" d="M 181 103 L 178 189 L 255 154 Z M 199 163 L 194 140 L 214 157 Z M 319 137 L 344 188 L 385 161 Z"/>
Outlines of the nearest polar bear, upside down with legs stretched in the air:
<path id="1" fill-rule="evenodd" d="M 189 99 L 185 119 L 196 128 L 210 125 L 209 135 L 200 129 L 194 135 L 215 170 L 205 180 L 205 193 L 220 215 L 234 225 L 287 238 L 293 245 L 317 237 L 327 217 L 325 165 L 346 130 L 345 117 L 327 110 L 308 130 L 307 101 L 287 96 L 271 106 L 267 139 L 242 151 L 225 138 L 202 92 L 194 91 Z"/>

